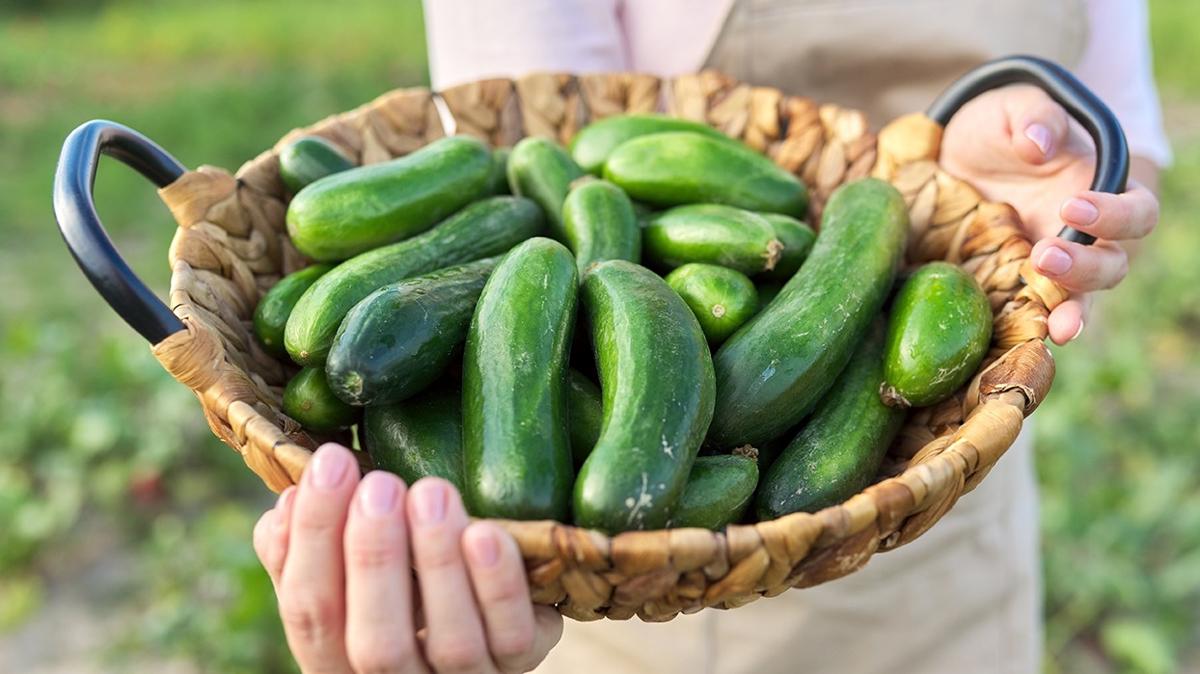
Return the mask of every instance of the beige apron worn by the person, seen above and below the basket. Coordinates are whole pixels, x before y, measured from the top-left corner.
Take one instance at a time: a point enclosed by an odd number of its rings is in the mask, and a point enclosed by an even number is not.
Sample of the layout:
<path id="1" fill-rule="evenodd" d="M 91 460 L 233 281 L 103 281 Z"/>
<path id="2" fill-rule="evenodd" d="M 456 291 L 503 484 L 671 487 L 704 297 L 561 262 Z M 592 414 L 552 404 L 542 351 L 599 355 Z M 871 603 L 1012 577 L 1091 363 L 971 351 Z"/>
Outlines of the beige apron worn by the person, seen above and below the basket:
<path id="1" fill-rule="evenodd" d="M 1074 65 L 1086 20 L 1080 0 L 739 0 L 708 65 L 881 126 L 995 56 Z M 568 620 L 536 672 L 1027 674 L 1040 602 L 1025 433 L 929 532 L 846 578 L 665 624 Z"/>

